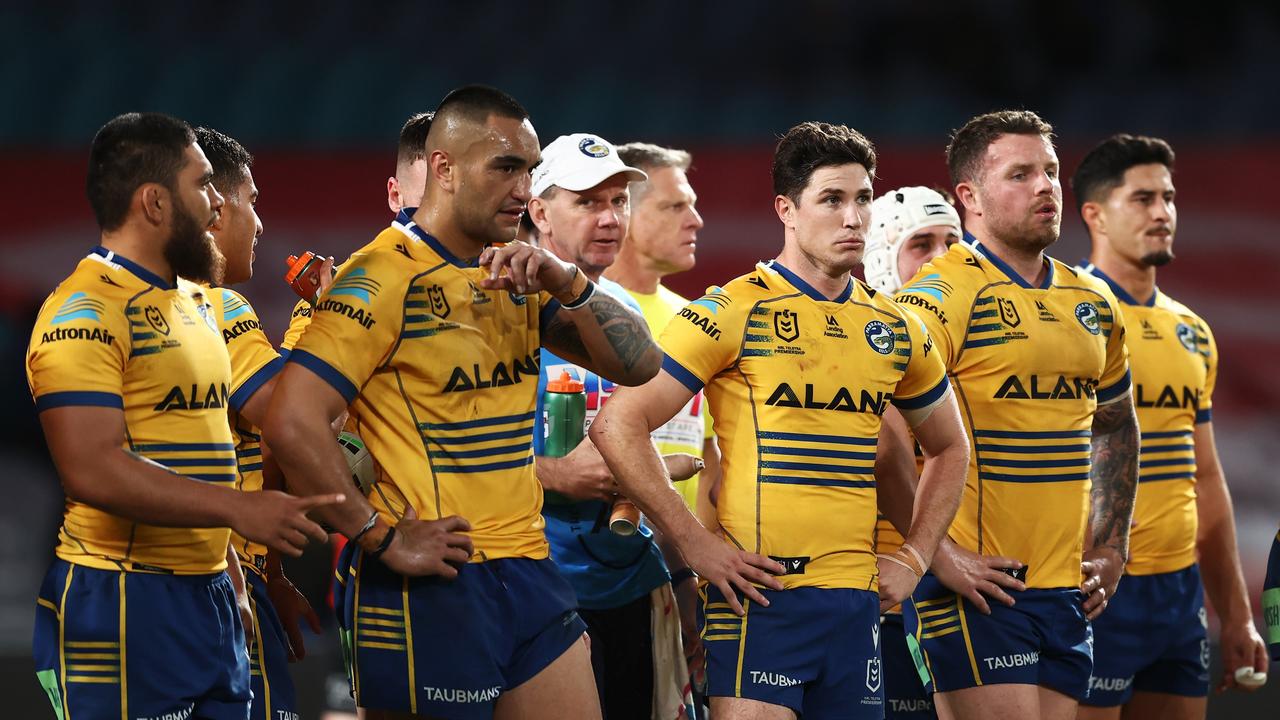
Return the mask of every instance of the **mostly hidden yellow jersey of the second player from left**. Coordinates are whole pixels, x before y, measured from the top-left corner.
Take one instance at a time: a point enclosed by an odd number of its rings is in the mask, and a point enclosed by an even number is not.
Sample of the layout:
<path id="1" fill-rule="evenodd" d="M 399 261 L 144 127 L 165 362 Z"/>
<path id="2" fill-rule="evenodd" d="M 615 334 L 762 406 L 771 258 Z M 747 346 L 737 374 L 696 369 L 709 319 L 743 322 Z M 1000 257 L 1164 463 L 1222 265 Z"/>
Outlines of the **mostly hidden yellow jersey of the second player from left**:
<path id="1" fill-rule="evenodd" d="M 266 340 L 253 306 L 238 292 L 224 287 L 210 288 L 218 331 L 227 343 L 232 360 L 232 395 L 228 407 L 232 438 L 236 442 L 236 464 L 243 492 L 262 489 L 262 430 L 239 414 L 241 409 L 280 370 L 284 361 Z M 262 574 L 266 569 L 266 546 L 232 533 L 232 546 L 241 565 Z"/>

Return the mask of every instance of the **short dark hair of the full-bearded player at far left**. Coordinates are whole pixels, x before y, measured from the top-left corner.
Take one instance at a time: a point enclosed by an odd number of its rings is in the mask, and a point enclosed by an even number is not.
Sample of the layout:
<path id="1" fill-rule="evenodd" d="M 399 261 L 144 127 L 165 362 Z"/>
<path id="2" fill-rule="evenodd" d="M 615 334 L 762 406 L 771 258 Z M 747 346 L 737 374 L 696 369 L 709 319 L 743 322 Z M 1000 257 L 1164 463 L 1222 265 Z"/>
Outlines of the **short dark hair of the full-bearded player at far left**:
<path id="1" fill-rule="evenodd" d="M 133 192 L 148 182 L 177 187 L 187 146 L 196 135 L 186 122 L 161 113 L 125 113 L 102 126 L 88 151 L 84 192 L 97 227 L 124 224 Z"/>

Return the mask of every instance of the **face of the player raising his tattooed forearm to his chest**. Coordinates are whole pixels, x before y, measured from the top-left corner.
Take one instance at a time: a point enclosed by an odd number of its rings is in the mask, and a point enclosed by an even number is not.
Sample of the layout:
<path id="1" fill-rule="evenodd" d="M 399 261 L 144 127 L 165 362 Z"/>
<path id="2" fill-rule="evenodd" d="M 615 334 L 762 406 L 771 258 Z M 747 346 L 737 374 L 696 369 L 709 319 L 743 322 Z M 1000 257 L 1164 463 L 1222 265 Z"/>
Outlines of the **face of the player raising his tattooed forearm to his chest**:
<path id="1" fill-rule="evenodd" d="M 453 211 L 475 242 L 511 242 L 529 202 L 529 173 L 538 164 L 534 126 L 490 115 L 452 160 L 457 167 Z"/>

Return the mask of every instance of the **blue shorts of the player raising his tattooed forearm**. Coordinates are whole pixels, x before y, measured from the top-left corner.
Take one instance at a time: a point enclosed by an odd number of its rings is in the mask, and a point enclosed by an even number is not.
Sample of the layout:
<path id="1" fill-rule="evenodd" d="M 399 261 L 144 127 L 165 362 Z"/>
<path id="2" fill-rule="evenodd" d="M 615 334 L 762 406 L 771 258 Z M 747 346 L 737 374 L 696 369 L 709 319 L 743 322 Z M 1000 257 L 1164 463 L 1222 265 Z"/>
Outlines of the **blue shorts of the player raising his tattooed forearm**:
<path id="1" fill-rule="evenodd" d="M 488 719 L 586 632 L 550 560 L 470 562 L 453 580 L 406 578 L 362 551 L 352 562 L 344 621 L 360 707 Z"/>

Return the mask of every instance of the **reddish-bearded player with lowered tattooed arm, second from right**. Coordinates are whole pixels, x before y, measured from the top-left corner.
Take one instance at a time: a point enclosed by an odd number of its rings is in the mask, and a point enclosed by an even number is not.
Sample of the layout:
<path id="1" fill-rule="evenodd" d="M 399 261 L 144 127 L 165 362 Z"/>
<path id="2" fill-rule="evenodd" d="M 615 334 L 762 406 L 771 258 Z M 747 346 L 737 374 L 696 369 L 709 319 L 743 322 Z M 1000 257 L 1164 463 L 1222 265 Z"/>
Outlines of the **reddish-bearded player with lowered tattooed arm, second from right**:
<path id="1" fill-rule="evenodd" d="M 916 309 L 946 363 L 973 462 L 950 530 L 959 547 L 938 553 L 905 621 L 940 715 L 1074 717 L 1089 687 L 1088 618 L 1124 569 L 1137 487 L 1125 325 L 1106 283 L 1043 252 L 1062 201 L 1048 123 L 1030 111 L 973 118 L 947 164 L 972 237 L 897 301 Z M 1018 582 L 1006 592 L 956 573 L 956 557 L 983 571 L 1006 559 Z M 974 589 L 1002 602 L 983 607 Z"/>

